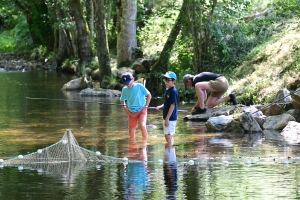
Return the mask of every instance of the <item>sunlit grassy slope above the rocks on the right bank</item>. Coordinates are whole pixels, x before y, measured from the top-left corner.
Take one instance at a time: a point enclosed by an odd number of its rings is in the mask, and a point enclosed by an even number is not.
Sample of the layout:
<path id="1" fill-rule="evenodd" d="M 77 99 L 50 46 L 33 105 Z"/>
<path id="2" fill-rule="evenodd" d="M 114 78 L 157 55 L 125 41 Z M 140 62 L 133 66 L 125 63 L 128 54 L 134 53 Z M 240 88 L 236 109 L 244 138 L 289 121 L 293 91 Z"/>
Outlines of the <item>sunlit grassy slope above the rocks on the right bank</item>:
<path id="1" fill-rule="evenodd" d="M 277 91 L 300 74 L 300 27 L 298 21 L 285 24 L 268 42 L 256 47 L 231 77 L 230 92 L 240 103 L 271 102 Z"/>

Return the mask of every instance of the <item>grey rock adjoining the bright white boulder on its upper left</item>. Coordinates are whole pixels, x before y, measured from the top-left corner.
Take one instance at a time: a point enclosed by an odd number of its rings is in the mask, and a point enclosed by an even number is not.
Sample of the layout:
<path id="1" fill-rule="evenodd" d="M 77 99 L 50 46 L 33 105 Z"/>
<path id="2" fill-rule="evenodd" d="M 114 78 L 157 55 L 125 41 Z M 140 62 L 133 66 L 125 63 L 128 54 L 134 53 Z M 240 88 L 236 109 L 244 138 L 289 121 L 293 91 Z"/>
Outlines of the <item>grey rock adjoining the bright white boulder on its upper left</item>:
<path id="1" fill-rule="evenodd" d="M 289 121 L 296 121 L 290 114 L 282 114 L 277 116 L 268 116 L 263 125 L 264 129 L 282 130 Z"/>

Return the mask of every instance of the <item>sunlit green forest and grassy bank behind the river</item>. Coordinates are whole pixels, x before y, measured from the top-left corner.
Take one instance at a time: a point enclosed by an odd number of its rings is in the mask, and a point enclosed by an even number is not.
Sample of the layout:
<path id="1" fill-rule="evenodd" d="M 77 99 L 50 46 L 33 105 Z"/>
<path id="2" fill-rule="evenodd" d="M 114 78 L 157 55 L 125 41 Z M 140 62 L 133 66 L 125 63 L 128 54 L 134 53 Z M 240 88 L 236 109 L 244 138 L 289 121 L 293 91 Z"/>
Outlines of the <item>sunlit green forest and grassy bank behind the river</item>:
<path id="1" fill-rule="evenodd" d="M 212 71 L 240 103 L 271 101 L 299 80 L 300 0 L 0 0 L 0 52 L 50 60 L 57 70 L 90 73 L 102 88 L 114 71 L 140 63 L 155 96 L 161 73 Z M 158 87 L 161 85 L 161 87 Z"/>

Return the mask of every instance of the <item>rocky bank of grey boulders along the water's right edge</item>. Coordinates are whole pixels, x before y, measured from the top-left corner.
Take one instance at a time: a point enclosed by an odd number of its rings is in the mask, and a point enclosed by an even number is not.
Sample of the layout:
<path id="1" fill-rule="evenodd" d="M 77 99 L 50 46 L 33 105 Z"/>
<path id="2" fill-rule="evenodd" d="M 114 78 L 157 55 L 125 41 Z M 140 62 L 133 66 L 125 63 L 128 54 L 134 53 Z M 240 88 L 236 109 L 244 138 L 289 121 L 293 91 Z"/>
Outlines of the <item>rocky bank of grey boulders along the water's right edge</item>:
<path id="1" fill-rule="evenodd" d="M 187 115 L 185 120 L 205 121 L 213 132 L 261 133 L 287 144 L 300 143 L 300 88 L 289 93 L 278 91 L 274 103 L 253 106 L 226 106 L 209 109 L 200 115 Z"/>

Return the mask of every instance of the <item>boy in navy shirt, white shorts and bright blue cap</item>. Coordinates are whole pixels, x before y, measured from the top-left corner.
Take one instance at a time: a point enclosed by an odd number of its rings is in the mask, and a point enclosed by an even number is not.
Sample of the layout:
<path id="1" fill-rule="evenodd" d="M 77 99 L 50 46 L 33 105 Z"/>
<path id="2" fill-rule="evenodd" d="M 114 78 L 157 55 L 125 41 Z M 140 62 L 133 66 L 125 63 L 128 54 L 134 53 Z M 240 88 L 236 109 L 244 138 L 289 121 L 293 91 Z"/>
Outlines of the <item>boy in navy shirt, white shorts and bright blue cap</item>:
<path id="1" fill-rule="evenodd" d="M 156 108 L 157 110 L 163 109 L 163 127 L 165 138 L 170 145 L 173 145 L 173 135 L 175 134 L 177 122 L 178 92 L 175 87 L 177 76 L 174 72 L 167 72 L 163 76 L 166 85 L 164 103 Z"/>

